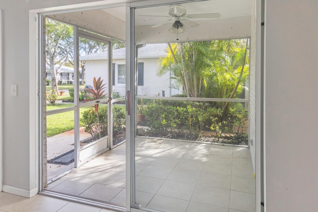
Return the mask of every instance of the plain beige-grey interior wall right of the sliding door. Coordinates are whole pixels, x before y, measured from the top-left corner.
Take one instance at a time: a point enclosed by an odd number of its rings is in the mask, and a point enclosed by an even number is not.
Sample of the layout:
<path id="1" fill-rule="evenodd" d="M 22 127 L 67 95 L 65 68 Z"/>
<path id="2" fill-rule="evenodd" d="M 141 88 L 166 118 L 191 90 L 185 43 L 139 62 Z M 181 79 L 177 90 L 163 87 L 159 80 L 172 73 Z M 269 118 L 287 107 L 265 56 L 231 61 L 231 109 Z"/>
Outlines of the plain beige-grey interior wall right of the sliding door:
<path id="1" fill-rule="evenodd" d="M 265 5 L 266 211 L 317 212 L 318 1 Z"/>

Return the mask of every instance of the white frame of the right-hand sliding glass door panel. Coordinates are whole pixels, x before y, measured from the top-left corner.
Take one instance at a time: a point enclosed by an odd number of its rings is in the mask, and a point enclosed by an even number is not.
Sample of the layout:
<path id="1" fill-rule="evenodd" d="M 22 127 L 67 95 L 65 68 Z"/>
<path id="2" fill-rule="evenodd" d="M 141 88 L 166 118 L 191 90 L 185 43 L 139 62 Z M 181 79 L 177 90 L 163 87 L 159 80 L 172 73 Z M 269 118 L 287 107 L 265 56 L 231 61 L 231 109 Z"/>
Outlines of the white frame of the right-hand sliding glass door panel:
<path id="1" fill-rule="evenodd" d="M 172 1 L 172 2 L 171 2 Z M 127 111 L 127 118 L 126 118 L 126 130 L 127 130 L 127 137 L 126 137 L 126 155 L 128 155 L 126 158 L 126 178 L 130 178 L 130 180 L 126 180 L 126 207 L 130 206 L 130 210 L 132 212 L 140 212 L 139 206 L 135 204 L 135 108 L 136 108 L 136 64 L 135 61 L 137 58 L 136 56 L 136 43 L 135 43 L 135 12 L 134 9 L 138 7 L 149 7 L 149 6 L 158 6 L 158 5 L 164 5 L 164 4 L 171 4 L 173 2 L 183 3 L 183 2 L 189 2 L 189 0 L 171 0 L 166 2 L 165 0 L 162 0 L 160 3 L 156 0 L 148 0 L 145 1 L 138 1 L 138 2 L 132 2 L 130 4 L 130 7 L 127 9 L 127 17 L 126 17 L 126 63 L 130 64 L 130 67 L 126 70 L 126 90 L 127 90 L 127 108 L 129 111 Z M 193 0 L 194 1 L 204 1 L 204 0 Z M 262 42 L 264 41 L 264 38 L 261 36 L 261 20 L 262 20 L 262 10 L 264 10 L 264 5 L 262 5 L 263 0 L 254 0 L 255 3 L 255 10 L 252 12 L 256 13 L 256 20 L 255 20 L 255 33 L 256 33 L 256 58 L 255 58 L 255 83 L 256 83 L 256 100 L 255 100 L 255 119 L 256 119 L 256 129 L 255 129 L 255 204 L 256 204 L 256 212 L 263 211 L 263 208 L 261 208 L 261 202 L 264 202 L 263 196 L 265 196 L 265 181 L 266 179 L 262 179 L 262 176 L 265 176 L 265 160 L 264 156 L 262 154 L 264 149 L 264 136 L 265 135 L 265 129 L 264 129 L 264 114 L 263 114 L 263 105 L 264 102 L 263 99 L 263 83 L 264 75 L 262 73 L 262 61 L 263 61 L 263 47 L 261 46 Z M 129 23 L 130 26 L 127 26 Z M 128 32 L 128 30 L 130 30 Z M 129 43 L 128 43 L 129 41 Z M 133 116 L 131 116 L 133 115 Z M 128 167 L 130 166 L 130 167 Z M 130 172 L 130 175 L 127 173 Z M 264 177 L 265 178 L 265 177 Z M 130 190 L 130 191 L 128 191 Z M 128 198 L 128 195 L 130 195 L 130 198 Z M 129 205 L 130 204 L 130 205 Z M 266 211 L 266 209 L 265 209 Z"/>

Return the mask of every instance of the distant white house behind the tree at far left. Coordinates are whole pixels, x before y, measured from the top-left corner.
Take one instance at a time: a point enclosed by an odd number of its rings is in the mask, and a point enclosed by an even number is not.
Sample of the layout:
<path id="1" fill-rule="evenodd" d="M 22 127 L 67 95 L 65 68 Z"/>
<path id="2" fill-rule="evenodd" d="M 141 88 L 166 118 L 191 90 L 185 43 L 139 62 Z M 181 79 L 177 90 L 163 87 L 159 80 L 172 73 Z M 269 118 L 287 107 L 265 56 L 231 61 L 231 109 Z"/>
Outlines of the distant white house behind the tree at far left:
<path id="1" fill-rule="evenodd" d="M 55 69 L 58 69 L 60 65 L 55 65 Z M 48 65 L 45 66 L 46 79 L 51 79 L 51 71 Z M 85 74 L 84 74 L 85 79 Z M 84 80 L 83 79 L 83 80 Z M 74 83 L 74 68 L 68 66 L 62 66 L 58 76 L 59 84 L 73 84 Z M 79 79 L 81 80 L 81 79 Z"/>

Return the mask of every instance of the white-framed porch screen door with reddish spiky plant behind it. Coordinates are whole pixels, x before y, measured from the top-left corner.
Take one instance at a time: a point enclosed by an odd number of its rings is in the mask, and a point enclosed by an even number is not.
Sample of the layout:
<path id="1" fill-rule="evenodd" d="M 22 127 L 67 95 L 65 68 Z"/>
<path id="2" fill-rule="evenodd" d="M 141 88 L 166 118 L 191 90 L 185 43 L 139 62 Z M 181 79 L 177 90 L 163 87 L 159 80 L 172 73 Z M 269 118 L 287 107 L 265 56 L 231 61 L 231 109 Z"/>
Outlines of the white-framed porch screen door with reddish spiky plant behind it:
<path id="1" fill-rule="evenodd" d="M 79 36 L 79 161 L 82 162 L 109 147 L 110 42 L 85 31 L 79 31 Z"/>

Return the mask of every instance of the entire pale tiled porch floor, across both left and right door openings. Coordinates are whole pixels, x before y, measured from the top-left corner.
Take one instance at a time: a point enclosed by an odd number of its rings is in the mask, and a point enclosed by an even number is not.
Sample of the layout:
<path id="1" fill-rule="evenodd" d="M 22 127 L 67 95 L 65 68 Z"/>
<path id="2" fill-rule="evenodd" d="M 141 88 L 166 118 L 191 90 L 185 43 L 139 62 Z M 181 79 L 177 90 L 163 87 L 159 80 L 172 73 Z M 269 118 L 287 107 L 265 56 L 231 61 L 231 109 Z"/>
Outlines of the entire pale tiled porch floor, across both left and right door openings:
<path id="1" fill-rule="evenodd" d="M 141 207 L 165 212 L 255 212 L 248 148 L 138 138 L 135 172 L 136 202 Z M 124 206 L 125 186 L 122 144 L 47 189 Z"/>

